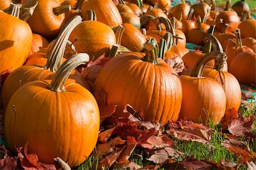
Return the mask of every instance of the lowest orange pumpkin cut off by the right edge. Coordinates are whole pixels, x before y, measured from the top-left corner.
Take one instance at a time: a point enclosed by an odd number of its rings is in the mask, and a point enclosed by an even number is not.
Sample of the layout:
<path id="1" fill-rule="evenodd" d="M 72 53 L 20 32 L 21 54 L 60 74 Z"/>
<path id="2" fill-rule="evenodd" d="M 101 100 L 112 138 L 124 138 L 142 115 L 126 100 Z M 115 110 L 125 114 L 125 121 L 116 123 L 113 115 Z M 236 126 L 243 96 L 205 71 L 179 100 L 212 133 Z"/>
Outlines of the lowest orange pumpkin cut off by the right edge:
<path id="1" fill-rule="evenodd" d="M 256 54 L 251 51 L 239 53 L 230 64 L 229 72 L 232 73 L 241 84 L 255 87 Z"/>

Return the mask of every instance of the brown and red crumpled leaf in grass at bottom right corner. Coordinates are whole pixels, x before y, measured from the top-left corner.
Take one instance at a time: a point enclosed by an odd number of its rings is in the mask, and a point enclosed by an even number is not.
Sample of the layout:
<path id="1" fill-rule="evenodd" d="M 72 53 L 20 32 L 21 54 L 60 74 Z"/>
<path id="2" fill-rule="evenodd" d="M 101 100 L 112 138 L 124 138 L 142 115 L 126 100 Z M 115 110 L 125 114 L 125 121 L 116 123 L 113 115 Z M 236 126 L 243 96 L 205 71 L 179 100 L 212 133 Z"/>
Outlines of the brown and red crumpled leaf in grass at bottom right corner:
<path id="1" fill-rule="evenodd" d="M 236 139 L 226 139 L 221 143 L 221 145 L 237 155 L 238 163 L 246 164 L 247 161 L 255 161 L 256 159 L 255 153 L 250 150 L 246 142 Z"/>

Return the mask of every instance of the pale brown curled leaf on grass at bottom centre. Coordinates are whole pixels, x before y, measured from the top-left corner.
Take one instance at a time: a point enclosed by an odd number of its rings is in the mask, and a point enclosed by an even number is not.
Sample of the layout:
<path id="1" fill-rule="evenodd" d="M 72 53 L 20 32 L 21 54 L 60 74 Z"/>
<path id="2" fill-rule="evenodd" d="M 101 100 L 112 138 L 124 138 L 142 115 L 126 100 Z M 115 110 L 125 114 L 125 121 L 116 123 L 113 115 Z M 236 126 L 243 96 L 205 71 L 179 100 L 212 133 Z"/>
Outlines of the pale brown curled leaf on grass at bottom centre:
<path id="1" fill-rule="evenodd" d="M 184 155 L 182 152 L 175 150 L 171 147 L 166 147 L 162 150 L 155 150 L 147 160 L 153 161 L 156 164 L 162 164 L 164 161 L 171 157 L 171 159 L 177 159 L 180 155 Z"/>

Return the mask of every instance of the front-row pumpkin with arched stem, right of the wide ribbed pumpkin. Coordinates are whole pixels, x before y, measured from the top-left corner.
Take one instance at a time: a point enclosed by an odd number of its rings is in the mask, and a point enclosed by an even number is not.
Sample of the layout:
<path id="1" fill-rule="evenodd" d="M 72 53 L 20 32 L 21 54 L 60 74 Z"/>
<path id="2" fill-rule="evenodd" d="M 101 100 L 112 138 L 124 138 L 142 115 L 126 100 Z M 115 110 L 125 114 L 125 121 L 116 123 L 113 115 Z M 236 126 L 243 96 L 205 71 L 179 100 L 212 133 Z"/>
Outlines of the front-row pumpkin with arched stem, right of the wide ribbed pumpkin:
<path id="1" fill-rule="evenodd" d="M 213 121 L 218 123 L 224 117 L 226 97 L 222 86 L 211 78 L 202 77 L 205 64 L 216 59 L 220 52 L 210 52 L 197 62 L 191 76 L 180 76 L 183 100 L 180 118 L 193 122 Z M 205 58 L 207 57 L 207 60 Z"/>

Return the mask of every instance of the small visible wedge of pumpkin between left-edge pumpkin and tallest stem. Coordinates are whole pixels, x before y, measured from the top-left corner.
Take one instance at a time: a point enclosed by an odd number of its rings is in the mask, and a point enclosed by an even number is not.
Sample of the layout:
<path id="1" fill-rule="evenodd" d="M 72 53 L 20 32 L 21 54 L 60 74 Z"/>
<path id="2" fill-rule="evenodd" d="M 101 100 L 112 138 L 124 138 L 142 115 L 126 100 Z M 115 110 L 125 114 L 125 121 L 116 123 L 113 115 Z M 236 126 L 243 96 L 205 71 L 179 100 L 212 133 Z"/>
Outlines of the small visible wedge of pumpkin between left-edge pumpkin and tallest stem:
<path id="1" fill-rule="evenodd" d="M 28 56 L 32 55 L 35 52 L 38 52 L 39 49 L 46 48 L 49 44 L 48 40 L 39 34 L 33 34 L 32 47 Z"/>

